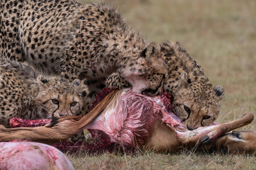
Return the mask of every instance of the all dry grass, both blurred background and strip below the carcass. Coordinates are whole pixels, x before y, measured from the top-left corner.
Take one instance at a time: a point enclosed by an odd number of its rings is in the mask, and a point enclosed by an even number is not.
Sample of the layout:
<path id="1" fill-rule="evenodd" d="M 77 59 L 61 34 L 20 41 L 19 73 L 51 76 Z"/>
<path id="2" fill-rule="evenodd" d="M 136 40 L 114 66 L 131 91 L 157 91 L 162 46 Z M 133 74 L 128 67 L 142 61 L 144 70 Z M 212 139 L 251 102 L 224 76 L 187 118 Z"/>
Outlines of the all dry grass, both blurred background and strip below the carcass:
<path id="1" fill-rule="evenodd" d="M 110 1 L 110 0 L 109 0 Z M 85 1 L 78 1 L 85 3 Z M 97 2 L 97 1 L 93 1 Z M 99 1 L 98 1 L 99 2 Z M 117 0 L 117 9 L 151 41 L 179 41 L 213 86 L 225 88 L 218 122 L 256 111 L 256 1 Z M 254 129 L 255 121 L 244 129 Z M 256 169 L 246 156 L 194 152 L 69 156 L 76 169 Z"/>

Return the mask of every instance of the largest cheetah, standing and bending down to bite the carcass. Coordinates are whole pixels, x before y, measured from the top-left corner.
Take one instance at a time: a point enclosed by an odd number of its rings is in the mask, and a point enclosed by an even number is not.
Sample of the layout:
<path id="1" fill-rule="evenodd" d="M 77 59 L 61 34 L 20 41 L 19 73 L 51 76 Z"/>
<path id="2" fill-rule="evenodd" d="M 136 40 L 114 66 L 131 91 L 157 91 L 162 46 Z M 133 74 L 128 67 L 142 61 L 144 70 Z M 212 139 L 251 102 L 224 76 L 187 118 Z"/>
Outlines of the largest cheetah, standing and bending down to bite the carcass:
<path id="1" fill-rule="evenodd" d="M 5 0 L 0 21 L 0 54 L 70 82 L 80 79 L 84 113 L 90 111 L 88 100 L 101 90 L 88 84 L 105 81 L 116 70 L 135 92 L 162 91 L 167 69 L 160 45 L 141 36 L 111 5 Z"/>

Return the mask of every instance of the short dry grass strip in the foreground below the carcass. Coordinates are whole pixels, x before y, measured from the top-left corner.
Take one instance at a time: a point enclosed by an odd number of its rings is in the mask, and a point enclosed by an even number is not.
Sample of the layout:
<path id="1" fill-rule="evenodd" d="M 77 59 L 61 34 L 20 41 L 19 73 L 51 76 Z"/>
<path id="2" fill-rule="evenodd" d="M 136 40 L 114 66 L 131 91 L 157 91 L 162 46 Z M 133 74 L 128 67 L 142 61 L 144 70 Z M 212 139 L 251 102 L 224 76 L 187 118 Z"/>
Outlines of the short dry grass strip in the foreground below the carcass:
<path id="1" fill-rule="evenodd" d="M 144 151 L 137 155 L 68 156 L 75 169 L 255 169 L 254 157 L 201 154 L 182 151 L 159 154 Z"/>

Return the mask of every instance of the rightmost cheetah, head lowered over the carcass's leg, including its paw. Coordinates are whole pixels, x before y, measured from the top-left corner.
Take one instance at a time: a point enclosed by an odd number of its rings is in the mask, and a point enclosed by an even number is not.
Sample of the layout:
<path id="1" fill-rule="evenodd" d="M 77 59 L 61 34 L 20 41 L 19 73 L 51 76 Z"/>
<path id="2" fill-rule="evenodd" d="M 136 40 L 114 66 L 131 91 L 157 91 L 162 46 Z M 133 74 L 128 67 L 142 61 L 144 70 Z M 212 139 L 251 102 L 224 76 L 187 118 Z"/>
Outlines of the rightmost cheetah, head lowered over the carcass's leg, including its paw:
<path id="1" fill-rule="evenodd" d="M 214 122 L 219 114 L 224 89 L 219 85 L 212 88 L 202 67 L 179 43 L 166 41 L 161 45 L 159 54 L 162 54 L 168 68 L 163 91 L 173 97 L 173 113 L 189 130 Z M 106 80 L 106 86 L 123 89 L 132 85 L 117 71 Z"/>

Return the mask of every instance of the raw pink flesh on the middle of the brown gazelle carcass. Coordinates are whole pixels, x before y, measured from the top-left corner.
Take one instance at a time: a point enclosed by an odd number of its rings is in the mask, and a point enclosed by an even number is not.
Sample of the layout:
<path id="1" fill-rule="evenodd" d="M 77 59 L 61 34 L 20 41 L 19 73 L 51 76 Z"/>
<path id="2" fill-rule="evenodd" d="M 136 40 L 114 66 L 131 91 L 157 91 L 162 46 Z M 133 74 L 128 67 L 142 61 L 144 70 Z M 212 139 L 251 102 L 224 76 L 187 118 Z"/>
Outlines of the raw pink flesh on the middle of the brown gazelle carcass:
<path id="1" fill-rule="evenodd" d="M 167 113 L 165 105 L 164 96 L 148 97 L 125 89 L 116 106 L 102 111 L 84 129 L 101 130 L 112 143 L 137 148 L 147 140 L 155 121 L 162 120 L 173 129 L 186 129 L 177 116 Z"/>

